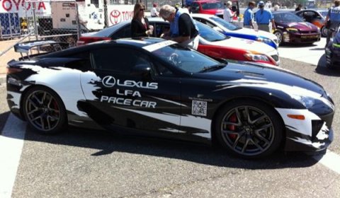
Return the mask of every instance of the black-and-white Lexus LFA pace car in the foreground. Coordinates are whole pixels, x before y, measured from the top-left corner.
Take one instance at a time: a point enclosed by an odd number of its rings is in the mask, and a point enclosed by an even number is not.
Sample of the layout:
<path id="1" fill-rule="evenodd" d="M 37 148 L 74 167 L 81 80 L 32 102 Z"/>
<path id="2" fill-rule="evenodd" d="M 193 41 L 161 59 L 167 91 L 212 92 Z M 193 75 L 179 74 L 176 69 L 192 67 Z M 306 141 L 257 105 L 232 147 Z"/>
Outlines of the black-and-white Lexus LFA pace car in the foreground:
<path id="1" fill-rule="evenodd" d="M 75 126 L 217 142 L 243 158 L 322 151 L 333 140 L 335 107 L 319 84 L 272 66 L 217 62 L 157 38 L 12 60 L 7 101 L 42 134 Z"/>

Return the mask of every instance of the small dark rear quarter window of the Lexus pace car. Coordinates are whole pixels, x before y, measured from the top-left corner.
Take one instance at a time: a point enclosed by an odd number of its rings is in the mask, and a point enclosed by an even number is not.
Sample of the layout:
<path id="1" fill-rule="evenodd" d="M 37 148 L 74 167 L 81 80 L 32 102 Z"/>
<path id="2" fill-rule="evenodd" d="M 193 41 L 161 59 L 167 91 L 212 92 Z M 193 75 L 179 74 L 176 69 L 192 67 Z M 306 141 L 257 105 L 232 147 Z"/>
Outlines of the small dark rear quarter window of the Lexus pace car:
<path id="1" fill-rule="evenodd" d="M 69 58 L 73 58 L 73 60 L 65 64 L 67 68 L 79 69 L 81 71 L 89 71 L 92 68 L 89 52 L 71 54 Z"/>

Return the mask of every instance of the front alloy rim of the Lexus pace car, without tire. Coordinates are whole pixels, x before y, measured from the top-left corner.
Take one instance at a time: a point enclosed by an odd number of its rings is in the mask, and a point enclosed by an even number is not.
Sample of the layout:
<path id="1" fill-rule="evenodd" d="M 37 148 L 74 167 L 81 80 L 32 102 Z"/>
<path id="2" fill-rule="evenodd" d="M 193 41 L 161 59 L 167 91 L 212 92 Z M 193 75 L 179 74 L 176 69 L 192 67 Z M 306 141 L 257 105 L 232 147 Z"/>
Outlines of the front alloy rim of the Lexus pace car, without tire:
<path id="1" fill-rule="evenodd" d="M 275 129 L 271 118 L 262 110 L 242 105 L 229 110 L 222 118 L 223 141 L 242 156 L 256 156 L 273 144 Z"/>

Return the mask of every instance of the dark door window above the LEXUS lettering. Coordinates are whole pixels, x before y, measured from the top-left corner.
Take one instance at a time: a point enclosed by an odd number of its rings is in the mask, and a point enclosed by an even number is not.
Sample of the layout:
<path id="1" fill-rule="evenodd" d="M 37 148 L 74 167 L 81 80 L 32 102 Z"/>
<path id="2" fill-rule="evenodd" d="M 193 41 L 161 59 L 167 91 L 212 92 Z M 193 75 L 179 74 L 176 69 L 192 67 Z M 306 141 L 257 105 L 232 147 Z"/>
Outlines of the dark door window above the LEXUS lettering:
<path id="1" fill-rule="evenodd" d="M 110 47 L 91 52 L 91 64 L 96 70 L 130 74 L 133 66 L 149 64 L 147 55 L 125 47 Z"/>

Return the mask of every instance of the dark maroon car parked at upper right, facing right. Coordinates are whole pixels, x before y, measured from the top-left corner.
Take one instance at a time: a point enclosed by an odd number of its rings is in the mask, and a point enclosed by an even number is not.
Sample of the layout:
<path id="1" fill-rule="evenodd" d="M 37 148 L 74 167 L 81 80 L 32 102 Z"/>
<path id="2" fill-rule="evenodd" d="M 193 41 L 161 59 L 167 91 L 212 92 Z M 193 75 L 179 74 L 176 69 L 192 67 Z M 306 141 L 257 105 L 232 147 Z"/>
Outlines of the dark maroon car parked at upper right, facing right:
<path id="1" fill-rule="evenodd" d="M 276 30 L 274 35 L 278 42 L 310 43 L 318 42 L 321 37 L 320 29 L 312 23 L 305 22 L 295 13 L 287 11 L 273 12 Z"/>

